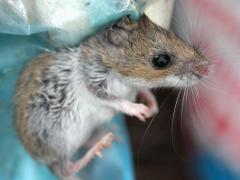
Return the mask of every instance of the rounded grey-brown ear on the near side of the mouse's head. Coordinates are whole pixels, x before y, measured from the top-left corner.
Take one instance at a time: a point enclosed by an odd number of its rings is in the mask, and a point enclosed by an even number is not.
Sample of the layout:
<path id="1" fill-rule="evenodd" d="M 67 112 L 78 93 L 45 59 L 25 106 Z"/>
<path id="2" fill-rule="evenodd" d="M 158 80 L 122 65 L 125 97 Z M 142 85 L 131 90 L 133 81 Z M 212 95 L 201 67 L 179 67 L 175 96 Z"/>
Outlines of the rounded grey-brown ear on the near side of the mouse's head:
<path id="1" fill-rule="evenodd" d="M 117 26 L 113 26 L 105 32 L 104 39 L 116 47 L 129 48 L 131 47 L 131 38 L 129 34 L 130 32 Z"/>

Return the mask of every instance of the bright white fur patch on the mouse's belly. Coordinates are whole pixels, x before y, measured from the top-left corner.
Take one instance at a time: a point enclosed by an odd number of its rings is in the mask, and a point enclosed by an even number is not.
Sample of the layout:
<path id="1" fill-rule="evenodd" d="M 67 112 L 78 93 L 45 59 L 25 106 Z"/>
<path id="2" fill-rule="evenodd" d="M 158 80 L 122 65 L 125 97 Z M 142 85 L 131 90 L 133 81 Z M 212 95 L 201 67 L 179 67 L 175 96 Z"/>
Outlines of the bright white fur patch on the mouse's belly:
<path id="1" fill-rule="evenodd" d="M 84 102 L 80 97 L 78 99 L 76 103 L 79 103 L 79 101 Z M 76 111 L 72 112 L 73 116 L 76 117 L 76 121 L 74 123 L 72 121 L 66 122 L 65 128 L 65 139 L 72 153 L 86 143 L 96 127 L 110 121 L 116 113 L 114 109 L 100 105 L 97 101 L 91 104 L 76 104 L 76 106 L 79 108 L 72 108 L 76 109 Z"/>

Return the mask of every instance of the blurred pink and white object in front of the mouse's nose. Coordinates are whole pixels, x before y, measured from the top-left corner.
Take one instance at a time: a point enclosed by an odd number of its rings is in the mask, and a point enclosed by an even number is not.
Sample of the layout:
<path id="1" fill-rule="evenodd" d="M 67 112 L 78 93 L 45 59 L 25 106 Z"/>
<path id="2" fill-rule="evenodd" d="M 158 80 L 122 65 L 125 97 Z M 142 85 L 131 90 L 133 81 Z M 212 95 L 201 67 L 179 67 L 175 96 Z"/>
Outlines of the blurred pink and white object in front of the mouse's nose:
<path id="1" fill-rule="evenodd" d="M 197 25 L 196 41 L 208 41 L 206 54 L 215 65 L 191 101 L 190 130 L 198 147 L 240 174 L 240 1 L 183 0 L 181 6 Z"/>

